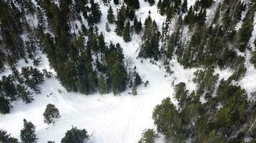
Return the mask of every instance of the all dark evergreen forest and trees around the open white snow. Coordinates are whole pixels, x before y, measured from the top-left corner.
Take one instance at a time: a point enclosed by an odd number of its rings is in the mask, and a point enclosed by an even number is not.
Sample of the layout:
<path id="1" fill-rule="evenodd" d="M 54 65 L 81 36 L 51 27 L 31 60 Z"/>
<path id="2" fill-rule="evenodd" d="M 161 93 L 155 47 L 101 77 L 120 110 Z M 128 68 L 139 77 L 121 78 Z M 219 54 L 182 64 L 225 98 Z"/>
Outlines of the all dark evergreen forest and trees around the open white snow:
<path id="1" fill-rule="evenodd" d="M 0 74 L 12 71 L 0 80 L 0 113 L 9 114 L 14 101 L 29 104 L 40 94 L 40 84 L 52 77 L 38 68 L 42 54 L 68 92 L 120 95 L 129 89 L 140 96 L 137 88 L 150 83 L 121 44 L 106 41 L 104 32 L 114 31 L 126 43 L 140 37 L 142 64 L 150 59 L 172 74 L 175 59 L 184 69 L 197 69 L 191 79 L 196 90 L 185 82 L 173 84 L 173 99 L 157 104 L 156 128 L 145 129 L 139 142 L 256 142 L 256 91 L 248 93 L 238 84 L 248 64 L 256 68 L 256 1 L 195 0 L 191 6 L 187 0 L 145 1 L 165 17 L 162 25 L 150 11 L 145 21 L 137 16 L 138 0 L 0 0 Z M 106 19 L 101 4 L 108 7 Z M 102 21 L 104 32 L 97 26 Z M 18 68 L 20 60 L 33 64 Z M 232 75 L 221 79 L 216 69 Z M 61 114 L 47 104 L 43 117 L 45 124 L 55 124 Z M 21 141 L 37 142 L 35 125 L 23 122 Z M 0 142 L 19 142 L 11 136 L 0 130 Z M 72 127 L 61 142 L 91 142 L 90 137 L 86 129 Z"/>

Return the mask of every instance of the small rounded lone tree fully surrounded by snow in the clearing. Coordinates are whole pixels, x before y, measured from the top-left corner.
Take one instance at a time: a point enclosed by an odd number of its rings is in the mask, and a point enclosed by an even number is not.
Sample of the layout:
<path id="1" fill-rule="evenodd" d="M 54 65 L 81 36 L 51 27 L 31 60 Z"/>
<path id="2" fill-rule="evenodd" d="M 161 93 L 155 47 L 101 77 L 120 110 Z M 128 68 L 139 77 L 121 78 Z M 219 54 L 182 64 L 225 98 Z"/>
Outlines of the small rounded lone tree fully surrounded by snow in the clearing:
<path id="1" fill-rule="evenodd" d="M 55 119 L 60 118 L 60 112 L 54 104 L 47 104 L 44 114 L 44 122 L 47 124 L 54 124 Z"/>

